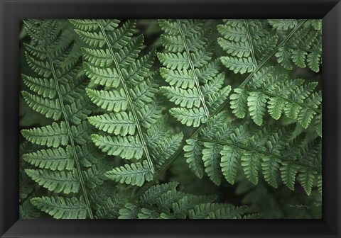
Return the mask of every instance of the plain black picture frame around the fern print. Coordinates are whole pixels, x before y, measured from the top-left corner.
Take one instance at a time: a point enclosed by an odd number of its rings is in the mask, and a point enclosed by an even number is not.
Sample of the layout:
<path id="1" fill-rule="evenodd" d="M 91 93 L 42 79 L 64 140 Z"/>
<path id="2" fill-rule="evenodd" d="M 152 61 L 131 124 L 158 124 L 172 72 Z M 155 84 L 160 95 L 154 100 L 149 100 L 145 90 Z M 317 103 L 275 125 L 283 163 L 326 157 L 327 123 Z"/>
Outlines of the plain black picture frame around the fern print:
<path id="1" fill-rule="evenodd" d="M 340 237 L 340 1 L 0 0 L 0 17 L 1 237 Z M 18 26 L 23 18 L 323 18 L 323 219 L 18 220 Z"/>

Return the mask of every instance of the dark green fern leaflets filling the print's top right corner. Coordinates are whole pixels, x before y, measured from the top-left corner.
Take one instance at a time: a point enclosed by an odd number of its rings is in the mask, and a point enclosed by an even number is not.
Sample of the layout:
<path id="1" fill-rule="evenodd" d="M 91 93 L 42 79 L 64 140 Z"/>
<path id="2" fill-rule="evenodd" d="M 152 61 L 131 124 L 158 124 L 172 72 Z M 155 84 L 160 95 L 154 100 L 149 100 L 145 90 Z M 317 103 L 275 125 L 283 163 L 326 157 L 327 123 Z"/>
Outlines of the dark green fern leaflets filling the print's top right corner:
<path id="1" fill-rule="evenodd" d="M 276 30 L 294 28 L 298 22 L 292 19 L 269 20 Z M 305 27 L 296 31 L 286 44 L 276 52 L 277 62 L 286 69 L 309 67 L 313 72 L 320 71 L 322 55 L 322 28 L 321 20 L 308 20 Z M 313 29 L 313 30 L 312 30 Z"/>

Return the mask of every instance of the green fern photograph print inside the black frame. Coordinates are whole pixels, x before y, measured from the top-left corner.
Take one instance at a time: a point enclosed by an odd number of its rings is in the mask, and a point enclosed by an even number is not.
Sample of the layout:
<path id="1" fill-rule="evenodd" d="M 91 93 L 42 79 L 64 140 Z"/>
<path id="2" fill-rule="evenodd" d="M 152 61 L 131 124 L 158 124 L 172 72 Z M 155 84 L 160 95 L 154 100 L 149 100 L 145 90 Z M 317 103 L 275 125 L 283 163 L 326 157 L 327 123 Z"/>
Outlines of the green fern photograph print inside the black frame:
<path id="1" fill-rule="evenodd" d="M 20 22 L 21 219 L 321 219 L 320 19 Z"/>

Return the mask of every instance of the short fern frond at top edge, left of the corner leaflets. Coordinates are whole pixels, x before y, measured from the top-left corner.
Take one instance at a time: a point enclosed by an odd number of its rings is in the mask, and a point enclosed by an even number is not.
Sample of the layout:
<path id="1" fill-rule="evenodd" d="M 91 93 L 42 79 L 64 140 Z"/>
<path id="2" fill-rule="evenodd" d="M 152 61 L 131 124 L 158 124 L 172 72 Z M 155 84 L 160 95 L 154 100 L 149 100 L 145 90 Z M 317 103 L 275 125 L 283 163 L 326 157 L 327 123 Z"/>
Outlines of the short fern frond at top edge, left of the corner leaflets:
<path id="1" fill-rule="evenodd" d="M 235 74 L 253 72 L 277 44 L 277 35 L 261 20 L 224 20 L 217 29 L 222 35 L 218 43 L 229 55 L 220 60 Z"/>

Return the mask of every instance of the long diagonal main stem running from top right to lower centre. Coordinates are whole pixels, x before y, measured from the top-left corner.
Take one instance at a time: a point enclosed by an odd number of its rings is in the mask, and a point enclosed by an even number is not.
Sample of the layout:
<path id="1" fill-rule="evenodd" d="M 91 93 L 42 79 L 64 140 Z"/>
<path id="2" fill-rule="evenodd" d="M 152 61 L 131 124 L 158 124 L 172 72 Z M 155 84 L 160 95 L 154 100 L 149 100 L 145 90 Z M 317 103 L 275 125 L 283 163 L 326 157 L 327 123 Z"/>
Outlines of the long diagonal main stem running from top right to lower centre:
<path id="1" fill-rule="evenodd" d="M 253 72 L 251 72 L 251 74 L 249 74 L 249 76 L 247 77 L 247 79 L 245 79 L 242 84 L 240 84 L 239 87 L 244 87 L 245 84 L 247 84 L 247 82 L 251 79 L 251 77 L 259 71 L 259 69 L 261 69 L 261 67 L 263 67 L 264 64 L 266 64 L 266 62 L 268 62 L 268 60 L 271 59 L 271 57 L 276 53 L 276 51 L 278 50 L 279 47 L 281 47 L 282 45 L 284 45 L 290 38 L 291 36 L 299 29 L 301 28 L 301 26 L 303 26 L 303 24 L 306 22 L 307 20 L 303 20 L 301 21 L 301 23 L 298 24 L 298 26 L 296 26 L 296 28 L 294 28 L 291 33 L 289 33 L 286 38 L 277 46 L 275 47 L 275 49 L 258 65 L 258 67 L 256 67 L 256 69 L 254 69 Z M 210 117 L 212 118 L 213 116 L 217 115 L 217 113 L 220 113 L 220 111 L 222 111 L 222 109 L 227 106 L 227 103 L 229 103 L 229 99 L 227 99 L 224 103 L 222 103 L 222 105 L 220 105 L 219 108 L 217 108 L 217 110 L 215 112 L 213 112 Z M 197 128 L 197 130 L 195 130 L 195 132 L 193 132 L 193 134 L 188 138 L 189 139 L 193 139 L 197 136 L 197 134 L 200 133 L 200 130 L 205 126 L 205 124 L 201 124 L 199 126 L 199 128 Z M 180 156 L 180 154 L 183 153 L 183 147 L 185 146 L 185 142 L 182 142 L 180 147 L 176 150 L 176 152 L 173 154 L 173 156 L 171 158 L 169 158 L 164 164 L 163 166 L 161 166 L 160 169 L 158 169 L 158 171 L 156 171 L 155 175 L 154 175 L 154 179 L 152 181 L 149 181 L 148 183 L 145 183 L 144 186 L 142 186 L 139 191 L 137 191 L 136 195 L 132 198 L 139 198 L 139 196 L 141 196 L 142 193 L 144 193 L 144 191 L 146 191 L 148 188 L 150 188 L 153 183 L 155 183 L 158 180 L 158 177 L 161 176 L 161 174 L 163 174 L 164 171 L 166 171 L 168 169 L 169 166 L 171 166 L 171 164 L 173 164 L 174 160 Z"/>

